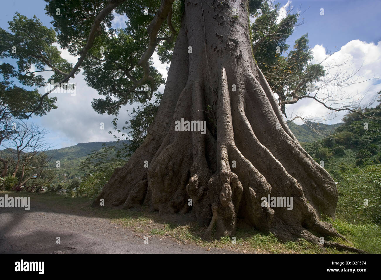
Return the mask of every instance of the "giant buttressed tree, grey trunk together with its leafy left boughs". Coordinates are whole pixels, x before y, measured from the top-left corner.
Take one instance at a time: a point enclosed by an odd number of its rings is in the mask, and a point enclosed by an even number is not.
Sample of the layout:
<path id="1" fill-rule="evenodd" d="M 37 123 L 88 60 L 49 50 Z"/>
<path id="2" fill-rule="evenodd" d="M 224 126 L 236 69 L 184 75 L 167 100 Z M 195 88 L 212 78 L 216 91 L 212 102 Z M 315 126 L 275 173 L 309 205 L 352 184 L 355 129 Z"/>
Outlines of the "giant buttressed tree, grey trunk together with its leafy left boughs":
<path id="1" fill-rule="evenodd" d="M 47 2 L 58 42 L 79 56 L 62 81 L 83 67 L 103 96 L 93 101 L 99 113 L 117 116 L 155 96 L 164 82 L 150 60 L 155 50 L 171 62 L 146 139 L 94 206 L 191 211 L 205 239 L 234 235 L 241 223 L 280 240 L 359 251 L 330 240 L 345 240 L 322 221 L 335 216 L 335 182 L 299 145 L 253 58 L 249 16 L 261 1 Z M 115 13 L 127 16 L 126 28 L 110 28 Z M 182 119 L 205 122 L 205 133 L 175 130 Z M 292 198 L 292 210 L 268 197 Z"/>

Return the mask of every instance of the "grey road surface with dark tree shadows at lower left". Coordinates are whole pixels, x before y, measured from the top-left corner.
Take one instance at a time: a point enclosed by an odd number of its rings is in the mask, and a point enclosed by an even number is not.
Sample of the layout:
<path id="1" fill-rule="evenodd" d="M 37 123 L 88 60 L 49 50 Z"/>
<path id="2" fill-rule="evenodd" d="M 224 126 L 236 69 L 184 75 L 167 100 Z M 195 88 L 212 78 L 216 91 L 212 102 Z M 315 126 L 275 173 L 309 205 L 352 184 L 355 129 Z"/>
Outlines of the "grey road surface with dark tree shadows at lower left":
<path id="1" fill-rule="evenodd" d="M 208 251 L 171 238 L 149 236 L 148 244 L 132 230 L 112 224 L 110 219 L 91 217 L 34 203 L 31 210 L 0 208 L 0 253 L 234 253 Z M 61 244 L 57 244 L 57 237 Z"/>

